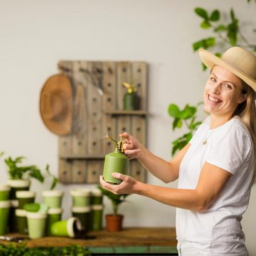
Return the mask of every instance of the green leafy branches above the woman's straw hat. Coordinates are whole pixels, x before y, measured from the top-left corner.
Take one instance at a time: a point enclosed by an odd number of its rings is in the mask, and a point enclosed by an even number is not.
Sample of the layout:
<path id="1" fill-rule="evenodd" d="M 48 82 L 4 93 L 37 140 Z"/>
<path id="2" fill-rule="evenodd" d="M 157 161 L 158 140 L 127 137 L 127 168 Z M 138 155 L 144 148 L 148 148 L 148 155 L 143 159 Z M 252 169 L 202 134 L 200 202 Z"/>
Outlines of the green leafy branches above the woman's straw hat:
<path id="1" fill-rule="evenodd" d="M 250 0 L 247 0 L 247 2 L 249 3 Z M 222 21 L 222 14 L 218 9 L 210 12 L 201 7 L 197 7 L 194 11 L 203 19 L 200 24 L 201 28 L 211 29 L 213 33 L 213 36 L 194 42 L 194 51 L 199 48 L 209 49 L 214 46 L 221 46 L 222 49 L 230 46 L 242 46 L 248 50 L 254 50 L 256 53 L 256 44 L 250 43 L 243 35 L 240 28 L 240 21 L 235 15 L 233 8 L 230 9 L 230 21 L 228 22 Z M 256 32 L 255 29 L 253 31 Z M 215 55 L 218 57 L 221 56 L 219 52 L 216 52 Z M 206 70 L 205 65 L 203 65 L 203 70 Z"/>

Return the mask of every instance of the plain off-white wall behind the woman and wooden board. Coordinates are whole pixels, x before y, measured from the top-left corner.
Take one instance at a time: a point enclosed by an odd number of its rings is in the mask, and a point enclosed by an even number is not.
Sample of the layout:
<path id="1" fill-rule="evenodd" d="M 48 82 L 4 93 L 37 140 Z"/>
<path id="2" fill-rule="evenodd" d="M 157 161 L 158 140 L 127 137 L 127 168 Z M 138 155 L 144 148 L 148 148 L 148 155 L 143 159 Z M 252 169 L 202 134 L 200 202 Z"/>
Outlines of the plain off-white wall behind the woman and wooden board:
<path id="1" fill-rule="evenodd" d="M 145 60 L 149 63 L 148 147 L 170 159 L 171 142 L 181 132 L 172 131 L 167 107 L 171 102 L 181 107 L 196 104 L 206 82 L 191 45 L 210 33 L 199 28 L 201 19 L 193 13 L 196 6 L 227 13 L 234 6 L 248 28 L 248 38 L 255 41 L 254 1 L 0 0 L 0 151 L 26 156 L 27 163 L 41 168 L 48 163 L 57 174 L 57 137 L 43 125 L 38 100 L 46 78 L 57 72 L 58 60 Z M 5 182 L 3 161 L 0 168 Z M 150 175 L 148 182 L 176 187 Z M 47 185 L 35 181 L 32 189 L 40 192 Z M 65 218 L 70 215 L 72 187 L 59 185 L 65 190 Z M 250 255 L 256 255 L 255 198 L 253 188 L 242 221 Z M 142 196 L 130 196 L 128 201 L 120 208 L 126 226 L 175 225 L 174 208 Z M 110 211 L 110 203 L 105 204 L 105 212 Z"/>

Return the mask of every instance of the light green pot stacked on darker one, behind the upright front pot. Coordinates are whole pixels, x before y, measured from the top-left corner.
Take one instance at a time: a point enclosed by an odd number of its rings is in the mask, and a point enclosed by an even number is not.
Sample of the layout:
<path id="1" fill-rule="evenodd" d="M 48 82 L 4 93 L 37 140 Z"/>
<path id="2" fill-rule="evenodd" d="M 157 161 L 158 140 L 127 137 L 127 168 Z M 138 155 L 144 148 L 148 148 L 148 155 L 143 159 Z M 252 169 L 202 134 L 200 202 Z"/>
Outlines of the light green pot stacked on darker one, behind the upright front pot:
<path id="1" fill-rule="evenodd" d="M 48 206 L 46 220 L 46 235 L 53 235 L 51 227 L 53 223 L 61 220 L 63 213 L 62 205 L 63 191 L 43 191 L 43 203 Z"/>

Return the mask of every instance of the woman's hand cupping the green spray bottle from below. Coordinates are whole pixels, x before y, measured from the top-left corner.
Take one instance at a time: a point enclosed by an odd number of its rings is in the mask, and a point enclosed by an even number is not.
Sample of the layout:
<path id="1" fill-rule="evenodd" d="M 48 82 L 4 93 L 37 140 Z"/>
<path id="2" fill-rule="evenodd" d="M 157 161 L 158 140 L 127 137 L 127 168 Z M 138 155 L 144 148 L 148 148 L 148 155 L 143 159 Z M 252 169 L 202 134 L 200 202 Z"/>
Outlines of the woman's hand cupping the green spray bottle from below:
<path id="1" fill-rule="evenodd" d="M 100 176 L 100 183 L 103 188 L 107 189 L 108 191 L 111 191 L 116 195 L 137 193 L 139 181 L 137 181 L 135 178 L 119 173 L 113 173 L 112 176 L 114 178 L 119 178 L 120 180 L 122 180 L 122 183 L 119 185 L 112 185 L 104 181 L 104 178 Z"/>

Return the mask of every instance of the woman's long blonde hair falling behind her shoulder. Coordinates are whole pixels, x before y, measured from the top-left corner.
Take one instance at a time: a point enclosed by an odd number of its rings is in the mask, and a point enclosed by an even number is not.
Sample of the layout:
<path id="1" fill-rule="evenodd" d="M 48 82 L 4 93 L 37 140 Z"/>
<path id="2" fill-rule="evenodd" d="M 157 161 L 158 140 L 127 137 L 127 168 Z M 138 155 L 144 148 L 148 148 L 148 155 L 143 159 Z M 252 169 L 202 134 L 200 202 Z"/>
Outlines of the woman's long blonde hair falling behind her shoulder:
<path id="1" fill-rule="evenodd" d="M 246 94 L 246 100 L 236 108 L 234 115 L 240 117 L 245 124 L 252 137 L 254 151 L 256 156 L 256 107 L 255 99 L 256 92 L 242 80 L 242 93 Z M 254 173 L 252 176 L 252 184 L 256 182 L 256 161 L 254 166 Z"/>

